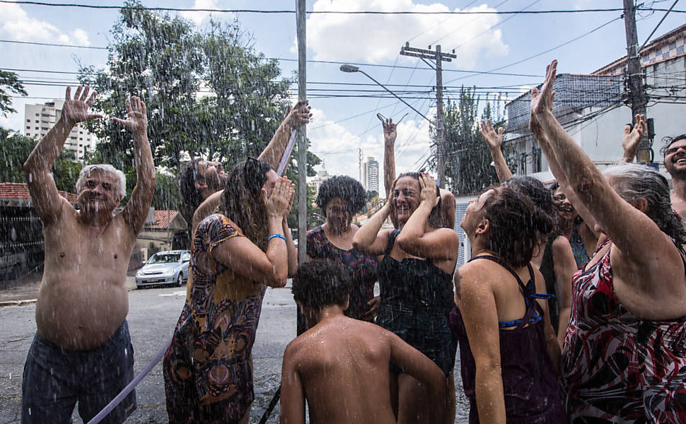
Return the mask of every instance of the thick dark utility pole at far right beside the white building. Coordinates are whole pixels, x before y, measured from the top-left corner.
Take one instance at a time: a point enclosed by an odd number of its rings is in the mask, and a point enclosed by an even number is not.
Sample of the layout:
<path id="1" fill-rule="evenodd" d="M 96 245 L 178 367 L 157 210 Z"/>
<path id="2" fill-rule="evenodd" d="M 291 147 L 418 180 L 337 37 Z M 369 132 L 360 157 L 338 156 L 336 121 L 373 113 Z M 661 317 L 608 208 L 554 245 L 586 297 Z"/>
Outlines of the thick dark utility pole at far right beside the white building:
<path id="1" fill-rule="evenodd" d="M 632 122 L 636 123 L 636 114 L 646 113 L 646 86 L 641 71 L 641 52 L 639 36 L 636 33 L 636 8 L 634 0 L 624 0 L 624 30 L 627 34 L 627 84 L 629 88 L 629 105 L 632 108 Z M 639 143 L 636 153 L 638 162 L 651 161 L 651 146 L 646 136 Z"/>

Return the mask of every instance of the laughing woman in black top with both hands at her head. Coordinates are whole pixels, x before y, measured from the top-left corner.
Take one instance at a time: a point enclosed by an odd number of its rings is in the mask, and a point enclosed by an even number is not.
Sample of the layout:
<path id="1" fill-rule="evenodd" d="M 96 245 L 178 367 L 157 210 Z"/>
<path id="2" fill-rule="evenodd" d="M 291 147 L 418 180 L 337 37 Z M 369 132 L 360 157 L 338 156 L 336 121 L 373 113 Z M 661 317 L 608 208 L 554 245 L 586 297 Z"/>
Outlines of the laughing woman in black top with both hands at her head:
<path id="1" fill-rule="evenodd" d="M 438 365 L 452 384 L 455 342 L 448 327 L 452 307 L 452 275 L 460 240 L 441 228 L 440 196 L 426 174 L 402 174 L 393 183 L 391 199 L 354 236 L 361 252 L 385 255 L 379 269 L 380 308 L 376 323 L 393 331 Z M 395 229 L 381 230 L 390 216 Z M 427 399 L 416 379 L 393 370 L 391 387 L 399 423 L 441 423 L 455 419 L 455 395 Z"/>

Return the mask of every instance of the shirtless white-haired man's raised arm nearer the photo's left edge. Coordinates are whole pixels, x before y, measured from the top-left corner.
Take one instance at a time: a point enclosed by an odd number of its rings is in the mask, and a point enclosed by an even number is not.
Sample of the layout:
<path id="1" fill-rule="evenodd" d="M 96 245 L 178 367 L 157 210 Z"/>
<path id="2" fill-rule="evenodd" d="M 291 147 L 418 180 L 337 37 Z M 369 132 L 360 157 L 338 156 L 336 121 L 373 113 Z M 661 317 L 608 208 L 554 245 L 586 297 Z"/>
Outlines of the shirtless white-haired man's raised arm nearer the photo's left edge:
<path id="1" fill-rule="evenodd" d="M 79 86 L 72 99 L 71 87 L 66 88 L 62 114 L 52 129 L 33 148 L 24 163 L 24 172 L 33 206 L 38 218 L 46 225 L 54 223 L 62 213 L 62 207 L 69 205 L 57 193 L 57 187 L 50 174 L 50 168 L 57 160 L 59 152 L 62 151 L 64 141 L 77 123 L 103 117 L 101 114 L 88 113 L 88 108 L 93 105 L 96 96 L 93 91 L 89 98 L 90 90 L 88 87 Z"/>

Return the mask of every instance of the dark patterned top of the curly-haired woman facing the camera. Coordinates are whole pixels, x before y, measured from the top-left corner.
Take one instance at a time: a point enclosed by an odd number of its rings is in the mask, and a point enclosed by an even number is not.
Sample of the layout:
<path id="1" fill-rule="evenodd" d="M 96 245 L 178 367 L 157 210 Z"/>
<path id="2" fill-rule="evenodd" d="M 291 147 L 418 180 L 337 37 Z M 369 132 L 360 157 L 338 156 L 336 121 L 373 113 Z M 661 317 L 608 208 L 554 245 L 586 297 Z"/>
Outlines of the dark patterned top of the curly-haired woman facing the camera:
<path id="1" fill-rule="evenodd" d="M 336 261 L 348 271 L 352 280 L 350 305 L 345 314 L 355 319 L 373 321 L 373 317 L 364 318 L 364 314 L 369 310 L 367 302 L 374 297 L 374 283 L 378 279 L 378 259 L 355 249 L 339 249 L 329 241 L 321 225 L 307 232 L 307 254 L 312 259 Z"/>

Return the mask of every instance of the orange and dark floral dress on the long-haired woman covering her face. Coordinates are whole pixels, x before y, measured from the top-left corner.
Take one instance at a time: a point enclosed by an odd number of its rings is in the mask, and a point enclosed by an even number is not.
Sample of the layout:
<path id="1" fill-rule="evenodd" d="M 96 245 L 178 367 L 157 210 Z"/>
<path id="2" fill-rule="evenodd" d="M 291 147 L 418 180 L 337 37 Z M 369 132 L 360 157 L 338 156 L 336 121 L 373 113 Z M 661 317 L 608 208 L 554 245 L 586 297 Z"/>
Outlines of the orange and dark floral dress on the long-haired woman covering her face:
<path id="1" fill-rule="evenodd" d="M 219 214 L 195 232 L 190 298 L 163 365 L 170 423 L 237 423 L 255 398 L 251 351 L 265 285 L 213 259 L 212 249 L 233 237 L 243 232 Z"/>

